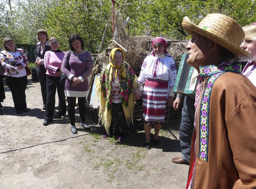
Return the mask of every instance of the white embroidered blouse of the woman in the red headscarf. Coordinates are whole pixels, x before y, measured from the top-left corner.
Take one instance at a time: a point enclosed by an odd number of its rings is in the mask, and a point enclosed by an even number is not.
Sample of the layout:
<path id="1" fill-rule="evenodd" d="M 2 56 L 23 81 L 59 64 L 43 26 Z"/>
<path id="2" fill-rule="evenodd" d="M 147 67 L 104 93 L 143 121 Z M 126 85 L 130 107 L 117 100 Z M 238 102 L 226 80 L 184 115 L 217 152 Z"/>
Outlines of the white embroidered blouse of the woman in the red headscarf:
<path id="1" fill-rule="evenodd" d="M 166 56 L 165 54 L 162 54 L 161 56 L 149 55 L 143 61 L 137 80 L 139 83 L 139 90 L 143 91 L 144 83 L 147 78 L 165 80 L 169 81 L 169 96 L 174 97 L 174 93 L 172 91 L 176 75 L 176 64 L 172 57 Z"/>

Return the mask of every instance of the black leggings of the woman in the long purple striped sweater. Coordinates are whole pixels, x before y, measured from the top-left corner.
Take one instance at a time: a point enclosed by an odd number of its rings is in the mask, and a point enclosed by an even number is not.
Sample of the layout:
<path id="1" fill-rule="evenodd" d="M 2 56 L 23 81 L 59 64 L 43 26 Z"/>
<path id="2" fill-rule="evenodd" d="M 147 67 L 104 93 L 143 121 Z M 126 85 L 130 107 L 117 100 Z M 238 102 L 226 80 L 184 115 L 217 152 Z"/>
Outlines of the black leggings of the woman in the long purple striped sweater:
<path id="1" fill-rule="evenodd" d="M 80 120 L 82 123 L 85 122 L 85 102 L 86 97 L 77 97 Z M 67 97 L 68 99 L 68 117 L 71 125 L 75 125 L 75 106 L 76 106 L 76 97 Z"/>

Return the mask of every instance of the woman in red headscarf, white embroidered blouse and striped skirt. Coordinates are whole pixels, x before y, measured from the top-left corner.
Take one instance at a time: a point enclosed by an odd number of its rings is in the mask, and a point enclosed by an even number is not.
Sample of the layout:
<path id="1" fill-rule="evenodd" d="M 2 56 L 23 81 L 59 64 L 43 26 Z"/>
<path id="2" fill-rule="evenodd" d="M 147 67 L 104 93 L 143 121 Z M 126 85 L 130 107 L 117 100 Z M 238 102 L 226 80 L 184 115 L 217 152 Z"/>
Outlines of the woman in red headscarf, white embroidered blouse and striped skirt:
<path id="1" fill-rule="evenodd" d="M 143 62 L 138 77 L 139 90 L 143 91 L 144 147 L 151 149 L 150 132 L 155 126 L 154 145 L 159 145 L 158 134 L 162 124 L 168 123 L 169 106 L 173 104 L 176 65 L 166 51 L 167 41 L 157 37 L 152 42 L 153 51 Z"/>

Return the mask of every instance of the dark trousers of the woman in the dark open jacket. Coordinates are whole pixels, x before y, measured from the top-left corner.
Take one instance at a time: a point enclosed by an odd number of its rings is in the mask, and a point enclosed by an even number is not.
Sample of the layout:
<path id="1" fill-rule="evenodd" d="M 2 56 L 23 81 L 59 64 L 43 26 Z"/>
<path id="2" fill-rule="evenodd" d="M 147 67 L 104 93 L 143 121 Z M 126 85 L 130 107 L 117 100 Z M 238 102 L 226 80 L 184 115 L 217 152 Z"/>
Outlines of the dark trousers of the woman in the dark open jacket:
<path id="1" fill-rule="evenodd" d="M 46 69 L 44 65 L 36 65 L 36 73 L 41 86 L 41 93 L 43 98 L 43 104 L 46 105 L 47 93 L 46 93 Z"/>

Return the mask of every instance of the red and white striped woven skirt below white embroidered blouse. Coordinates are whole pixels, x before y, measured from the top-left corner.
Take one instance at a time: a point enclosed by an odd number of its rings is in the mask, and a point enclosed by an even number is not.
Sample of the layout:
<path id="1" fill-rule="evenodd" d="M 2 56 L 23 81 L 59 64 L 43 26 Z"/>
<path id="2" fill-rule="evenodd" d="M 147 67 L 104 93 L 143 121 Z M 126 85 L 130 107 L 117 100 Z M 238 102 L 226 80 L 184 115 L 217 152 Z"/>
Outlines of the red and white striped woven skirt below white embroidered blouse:
<path id="1" fill-rule="evenodd" d="M 168 86 L 169 82 L 165 80 L 146 79 L 143 89 L 143 118 L 147 126 L 168 123 Z"/>

